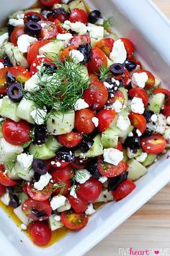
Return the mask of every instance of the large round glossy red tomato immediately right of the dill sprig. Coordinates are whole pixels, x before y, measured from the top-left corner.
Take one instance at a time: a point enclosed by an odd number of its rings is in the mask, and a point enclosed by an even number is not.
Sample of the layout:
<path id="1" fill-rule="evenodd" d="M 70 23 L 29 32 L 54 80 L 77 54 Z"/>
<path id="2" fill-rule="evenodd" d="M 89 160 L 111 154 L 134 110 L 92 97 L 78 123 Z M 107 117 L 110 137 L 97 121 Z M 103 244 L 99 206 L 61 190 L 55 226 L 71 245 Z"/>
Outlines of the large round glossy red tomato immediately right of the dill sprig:
<path id="1" fill-rule="evenodd" d="M 88 89 L 84 90 L 83 98 L 92 110 L 97 110 L 104 107 L 107 102 L 108 90 L 102 82 L 94 81 Z"/>

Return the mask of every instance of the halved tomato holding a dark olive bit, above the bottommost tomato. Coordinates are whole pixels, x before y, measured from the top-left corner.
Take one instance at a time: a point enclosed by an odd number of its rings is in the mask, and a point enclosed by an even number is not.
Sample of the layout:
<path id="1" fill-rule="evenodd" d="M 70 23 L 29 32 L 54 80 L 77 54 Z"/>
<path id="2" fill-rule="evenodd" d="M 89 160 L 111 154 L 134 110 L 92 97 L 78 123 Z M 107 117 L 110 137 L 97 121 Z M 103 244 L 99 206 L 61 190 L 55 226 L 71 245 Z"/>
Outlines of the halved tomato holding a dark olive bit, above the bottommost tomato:
<path id="1" fill-rule="evenodd" d="M 45 221 L 51 216 L 52 208 L 48 200 L 41 202 L 28 198 L 22 202 L 22 211 L 34 221 Z"/>

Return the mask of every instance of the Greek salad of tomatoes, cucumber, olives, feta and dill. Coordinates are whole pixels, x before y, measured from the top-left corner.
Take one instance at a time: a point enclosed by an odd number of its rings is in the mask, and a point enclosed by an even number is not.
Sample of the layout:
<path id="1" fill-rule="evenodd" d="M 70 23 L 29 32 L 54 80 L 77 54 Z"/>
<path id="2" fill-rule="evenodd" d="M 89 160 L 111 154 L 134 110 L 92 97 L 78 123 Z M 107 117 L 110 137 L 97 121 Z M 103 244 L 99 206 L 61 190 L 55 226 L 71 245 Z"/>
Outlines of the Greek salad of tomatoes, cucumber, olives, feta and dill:
<path id="1" fill-rule="evenodd" d="M 133 192 L 170 146 L 170 91 L 109 26 L 81 0 L 40 0 L 1 28 L 1 202 L 39 246 Z"/>

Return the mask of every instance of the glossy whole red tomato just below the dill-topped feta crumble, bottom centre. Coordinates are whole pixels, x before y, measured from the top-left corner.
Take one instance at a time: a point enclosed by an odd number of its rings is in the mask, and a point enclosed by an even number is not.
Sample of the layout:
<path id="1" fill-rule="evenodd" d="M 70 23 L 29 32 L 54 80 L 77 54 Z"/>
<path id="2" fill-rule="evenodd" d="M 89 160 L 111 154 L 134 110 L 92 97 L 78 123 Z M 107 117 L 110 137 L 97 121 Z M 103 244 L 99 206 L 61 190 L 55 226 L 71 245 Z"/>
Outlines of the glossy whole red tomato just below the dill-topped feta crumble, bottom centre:
<path id="1" fill-rule="evenodd" d="M 84 184 L 78 184 L 76 195 L 86 202 L 94 202 L 102 192 L 102 183 L 90 178 Z"/>

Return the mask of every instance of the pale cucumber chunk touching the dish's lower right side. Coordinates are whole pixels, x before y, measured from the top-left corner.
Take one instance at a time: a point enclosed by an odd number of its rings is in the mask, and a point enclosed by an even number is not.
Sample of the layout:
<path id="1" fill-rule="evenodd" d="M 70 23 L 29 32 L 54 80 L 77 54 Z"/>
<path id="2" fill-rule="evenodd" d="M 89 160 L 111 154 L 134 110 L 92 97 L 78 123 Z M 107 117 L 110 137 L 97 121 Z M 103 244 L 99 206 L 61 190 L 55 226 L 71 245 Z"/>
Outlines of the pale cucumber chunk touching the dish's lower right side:
<path id="1" fill-rule="evenodd" d="M 128 179 L 136 181 L 141 176 L 147 173 L 147 168 L 135 159 L 128 161 Z"/>

